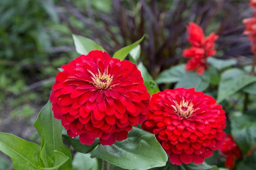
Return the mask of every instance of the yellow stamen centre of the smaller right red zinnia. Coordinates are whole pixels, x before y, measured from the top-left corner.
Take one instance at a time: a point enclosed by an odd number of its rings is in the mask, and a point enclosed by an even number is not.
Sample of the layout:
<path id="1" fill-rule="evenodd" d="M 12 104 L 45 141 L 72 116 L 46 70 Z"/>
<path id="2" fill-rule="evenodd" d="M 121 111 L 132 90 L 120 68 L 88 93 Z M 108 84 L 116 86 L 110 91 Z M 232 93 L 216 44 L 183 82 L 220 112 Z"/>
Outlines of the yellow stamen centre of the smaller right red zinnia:
<path id="1" fill-rule="evenodd" d="M 175 110 L 176 114 L 180 116 L 182 119 L 189 118 L 191 116 L 195 115 L 195 111 L 198 110 L 194 109 L 193 103 L 190 101 L 185 101 L 183 98 L 180 103 L 178 103 L 176 100 L 173 100 L 174 105 L 171 105 L 171 107 Z"/>

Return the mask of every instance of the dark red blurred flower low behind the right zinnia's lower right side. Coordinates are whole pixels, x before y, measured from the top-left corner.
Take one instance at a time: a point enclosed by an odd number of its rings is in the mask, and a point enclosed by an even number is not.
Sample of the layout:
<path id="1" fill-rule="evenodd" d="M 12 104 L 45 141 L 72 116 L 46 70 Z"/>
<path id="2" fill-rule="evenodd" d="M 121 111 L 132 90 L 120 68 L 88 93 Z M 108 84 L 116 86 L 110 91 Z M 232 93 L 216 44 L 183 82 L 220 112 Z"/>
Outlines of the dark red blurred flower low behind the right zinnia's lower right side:
<path id="1" fill-rule="evenodd" d="M 223 148 L 221 149 L 221 152 L 227 157 L 225 166 L 228 168 L 233 168 L 235 163 L 234 156 L 236 156 L 238 159 L 242 158 L 241 150 L 231 135 L 227 135 L 222 144 Z"/>

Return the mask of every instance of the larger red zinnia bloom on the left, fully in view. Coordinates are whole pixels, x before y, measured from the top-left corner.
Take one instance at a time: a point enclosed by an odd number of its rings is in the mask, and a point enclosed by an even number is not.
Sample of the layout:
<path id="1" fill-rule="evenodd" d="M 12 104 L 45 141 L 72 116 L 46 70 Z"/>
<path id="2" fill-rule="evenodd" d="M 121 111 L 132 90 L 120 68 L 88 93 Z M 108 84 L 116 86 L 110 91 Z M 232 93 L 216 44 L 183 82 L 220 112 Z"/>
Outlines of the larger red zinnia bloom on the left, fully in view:
<path id="1" fill-rule="evenodd" d="M 150 94 L 132 62 L 95 50 L 61 68 L 50 101 L 69 136 L 80 135 L 82 144 L 99 138 L 111 145 L 145 120 Z"/>

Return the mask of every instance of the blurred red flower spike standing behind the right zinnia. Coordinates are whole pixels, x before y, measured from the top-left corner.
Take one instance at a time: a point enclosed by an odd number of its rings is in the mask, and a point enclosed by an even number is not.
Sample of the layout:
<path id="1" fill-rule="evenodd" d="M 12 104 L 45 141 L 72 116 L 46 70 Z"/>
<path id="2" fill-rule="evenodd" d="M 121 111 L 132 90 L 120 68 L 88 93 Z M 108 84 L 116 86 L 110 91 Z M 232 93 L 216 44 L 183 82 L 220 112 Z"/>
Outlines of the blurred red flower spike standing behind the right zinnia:
<path id="1" fill-rule="evenodd" d="M 203 75 L 205 68 L 208 67 L 207 58 L 216 54 L 214 42 L 218 39 L 215 33 L 211 33 L 204 38 L 203 30 L 200 26 L 190 22 L 188 27 L 188 41 L 192 47 L 183 50 L 183 57 L 191 58 L 186 64 L 186 70 L 196 70 L 196 73 Z"/>

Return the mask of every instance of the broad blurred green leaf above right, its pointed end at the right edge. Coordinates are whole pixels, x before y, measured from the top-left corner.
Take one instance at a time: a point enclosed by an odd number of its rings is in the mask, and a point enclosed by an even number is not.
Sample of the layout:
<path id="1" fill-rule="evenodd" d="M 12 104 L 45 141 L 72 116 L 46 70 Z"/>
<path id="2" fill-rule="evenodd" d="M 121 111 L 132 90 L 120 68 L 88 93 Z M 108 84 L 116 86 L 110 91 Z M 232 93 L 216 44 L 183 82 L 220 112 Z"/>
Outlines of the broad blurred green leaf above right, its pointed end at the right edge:
<path id="1" fill-rule="evenodd" d="M 217 101 L 219 103 L 222 102 L 228 96 L 238 92 L 246 85 L 255 81 L 255 76 L 250 76 L 246 74 L 245 71 L 238 68 L 232 68 L 224 71 L 221 74 Z"/>

